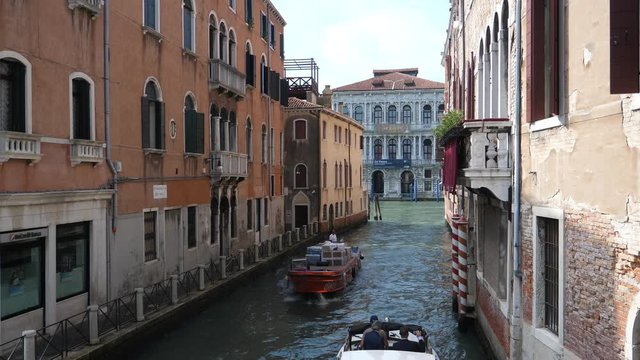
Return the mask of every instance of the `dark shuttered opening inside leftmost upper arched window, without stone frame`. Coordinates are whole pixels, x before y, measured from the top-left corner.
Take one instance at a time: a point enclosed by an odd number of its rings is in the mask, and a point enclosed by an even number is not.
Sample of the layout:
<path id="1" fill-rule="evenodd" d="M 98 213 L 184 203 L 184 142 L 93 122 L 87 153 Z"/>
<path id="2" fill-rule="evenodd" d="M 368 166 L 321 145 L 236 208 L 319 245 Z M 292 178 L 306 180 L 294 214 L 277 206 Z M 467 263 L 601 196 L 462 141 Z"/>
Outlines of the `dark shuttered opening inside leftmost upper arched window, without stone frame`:
<path id="1" fill-rule="evenodd" d="M 25 79 L 21 62 L 0 60 L 0 131 L 25 132 Z"/>

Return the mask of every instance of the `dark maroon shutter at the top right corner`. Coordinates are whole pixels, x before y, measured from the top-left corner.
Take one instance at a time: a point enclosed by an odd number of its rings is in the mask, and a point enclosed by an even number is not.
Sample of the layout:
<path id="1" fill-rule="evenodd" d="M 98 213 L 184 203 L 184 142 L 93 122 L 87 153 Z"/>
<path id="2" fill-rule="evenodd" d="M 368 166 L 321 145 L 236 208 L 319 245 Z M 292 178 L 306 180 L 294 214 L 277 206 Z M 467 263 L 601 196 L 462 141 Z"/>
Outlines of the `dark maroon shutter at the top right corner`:
<path id="1" fill-rule="evenodd" d="M 611 0 L 610 81 L 612 94 L 640 92 L 638 1 Z"/>

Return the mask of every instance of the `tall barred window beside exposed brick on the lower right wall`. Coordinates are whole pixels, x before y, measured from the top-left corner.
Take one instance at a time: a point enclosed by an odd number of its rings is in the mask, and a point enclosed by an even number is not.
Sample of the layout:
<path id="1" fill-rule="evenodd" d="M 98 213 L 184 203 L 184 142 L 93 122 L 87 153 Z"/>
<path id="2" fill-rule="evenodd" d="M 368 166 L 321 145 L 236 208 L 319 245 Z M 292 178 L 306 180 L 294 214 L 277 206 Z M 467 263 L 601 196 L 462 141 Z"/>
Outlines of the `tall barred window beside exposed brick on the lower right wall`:
<path id="1" fill-rule="evenodd" d="M 544 327 L 558 334 L 558 220 L 538 217 L 538 240 L 544 259 L 543 291 L 544 291 Z"/>

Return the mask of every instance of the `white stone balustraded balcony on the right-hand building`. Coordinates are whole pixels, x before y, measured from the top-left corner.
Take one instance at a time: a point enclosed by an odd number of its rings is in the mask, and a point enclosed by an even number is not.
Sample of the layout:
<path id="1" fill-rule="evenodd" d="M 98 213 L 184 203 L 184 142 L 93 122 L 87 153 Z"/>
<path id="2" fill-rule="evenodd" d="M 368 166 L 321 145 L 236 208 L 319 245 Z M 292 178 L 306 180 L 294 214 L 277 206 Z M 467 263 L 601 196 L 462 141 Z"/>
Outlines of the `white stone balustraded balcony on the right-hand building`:
<path id="1" fill-rule="evenodd" d="M 498 199 L 508 201 L 512 122 L 509 119 L 465 120 L 462 126 L 469 132 L 463 141 L 463 184 L 472 189 L 485 188 Z"/>

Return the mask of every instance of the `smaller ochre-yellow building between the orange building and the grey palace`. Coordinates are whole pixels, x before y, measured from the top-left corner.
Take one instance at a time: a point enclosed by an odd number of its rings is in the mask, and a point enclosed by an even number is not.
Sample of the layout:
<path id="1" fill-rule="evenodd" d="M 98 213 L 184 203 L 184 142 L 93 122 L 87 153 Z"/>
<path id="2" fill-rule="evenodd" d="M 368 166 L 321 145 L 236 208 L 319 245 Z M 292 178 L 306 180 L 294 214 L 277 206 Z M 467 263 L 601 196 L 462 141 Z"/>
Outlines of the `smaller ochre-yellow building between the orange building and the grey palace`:
<path id="1" fill-rule="evenodd" d="M 289 99 L 285 131 L 287 229 L 315 222 L 320 231 L 367 220 L 362 186 L 362 125 L 320 105 Z"/>

